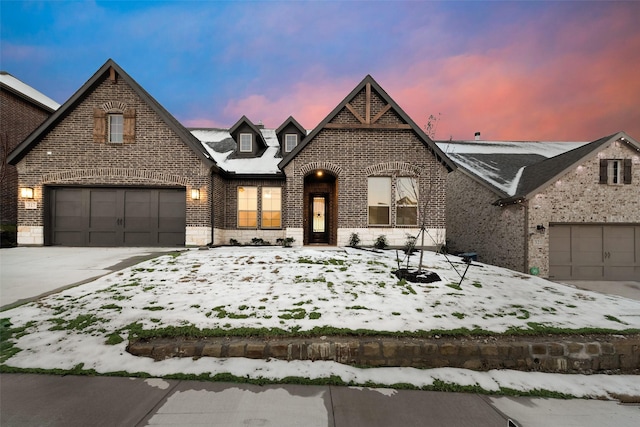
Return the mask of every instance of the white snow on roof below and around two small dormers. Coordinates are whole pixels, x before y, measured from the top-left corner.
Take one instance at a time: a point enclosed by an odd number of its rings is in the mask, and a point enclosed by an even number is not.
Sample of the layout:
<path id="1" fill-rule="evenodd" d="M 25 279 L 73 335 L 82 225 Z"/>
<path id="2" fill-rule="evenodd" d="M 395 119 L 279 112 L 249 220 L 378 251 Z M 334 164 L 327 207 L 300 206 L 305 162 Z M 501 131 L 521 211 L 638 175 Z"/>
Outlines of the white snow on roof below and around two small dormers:
<path id="1" fill-rule="evenodd" d="M 282 158 L 278 157 L 280 143 L 276 132 L 274 129 L 260 129 L 260 132 L 267 144 L 267 149 L 260 157 L 229 158 L 236 149 L 236 142 L 228 129 L 191 129 L 193 136 L 200 140 L 207 153 L 223 170 L 237 174 L 277 174 Z"/>

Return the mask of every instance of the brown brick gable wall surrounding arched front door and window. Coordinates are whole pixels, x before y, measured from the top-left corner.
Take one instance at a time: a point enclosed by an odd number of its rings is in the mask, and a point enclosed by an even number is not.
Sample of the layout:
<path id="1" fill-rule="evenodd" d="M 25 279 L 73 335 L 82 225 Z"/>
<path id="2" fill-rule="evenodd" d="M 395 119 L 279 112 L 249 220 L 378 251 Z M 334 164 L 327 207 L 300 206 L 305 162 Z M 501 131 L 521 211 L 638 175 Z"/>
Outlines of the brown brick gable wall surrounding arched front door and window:
<path id="1" fill-rule="evenodd" d="M 384 103 L 371 95 L 371 116 L 384 107 Z M 364 90 L 350 104 L 364 116 Z M 358 125 L 358 121 L 345 108 L 332 124 Z M 389 110 L 378 124 L 401 124 L 400 118 Z M 419 185 L 419 211 L 426 218 L 426 227 L 445 230 L 445 191 L 447 169 L 408 129 L 322 129 L 284 169 L 287 177 L 286 193 L 287 229 L 304 227 L 304 178 L 317 169 L 336 177 L 338 191 L 338 244 L 352 229 L 369 229 L 380 234 L 413 233 L 416 227 L 373 227 L 368 225 L 367 188 L 369 176 L 417 177 Z M 394 195 L 392 189 L 392 197 Z M 391 212 L 395 223 L 395 212 Z M 342 231 L 342 230 L 348 231 Z M 347 237 L 348 238 L 348 237 Z M 362 238 L 362 236 L 361 236 Z"/>

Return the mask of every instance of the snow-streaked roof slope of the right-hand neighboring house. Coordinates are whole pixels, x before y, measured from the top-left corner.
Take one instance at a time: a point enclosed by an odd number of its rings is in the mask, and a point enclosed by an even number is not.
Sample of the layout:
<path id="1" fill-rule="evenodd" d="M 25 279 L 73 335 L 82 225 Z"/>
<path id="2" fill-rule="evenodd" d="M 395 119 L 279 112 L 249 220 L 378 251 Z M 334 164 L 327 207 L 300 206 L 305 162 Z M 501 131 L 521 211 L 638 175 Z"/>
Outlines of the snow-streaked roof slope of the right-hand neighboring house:
<path id="1" fill-rule="evenodd" d="M 587 142 L 438 141 L 458 166 L 508 196 L 514 196 L 527 166 L 581 147 Z"/>

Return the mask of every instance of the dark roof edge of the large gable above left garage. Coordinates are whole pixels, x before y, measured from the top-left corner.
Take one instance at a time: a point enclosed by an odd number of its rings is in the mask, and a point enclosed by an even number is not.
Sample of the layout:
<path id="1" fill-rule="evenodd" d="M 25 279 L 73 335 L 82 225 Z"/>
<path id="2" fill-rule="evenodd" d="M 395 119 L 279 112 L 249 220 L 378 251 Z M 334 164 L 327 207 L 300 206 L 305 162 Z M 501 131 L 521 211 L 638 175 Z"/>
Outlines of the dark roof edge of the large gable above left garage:
<path id="1" fill-rule="evenodd" d="M 31 135 L 27 137 L 15 150 L 9 155 L 7 162 L 15 165 L 22 159 L 33 147 L 35 147 L 44 138 L 51 129 L 60 123 L 74 108 L 82 103 L 87 95 L 91 93 L 102 81 L 108 78 L 110 70 L 122 78 L 131 89 L 158 114 L 158 116 L 171 128 L 176 135 L 189 147 L 201 160 L 210 168 L 216 168 L 211 156 L 202 148 L 200 141 L 191 134 L 184 126 L 180 124 L 167 110 L 164 109 L 158 101 L 156 101 L 146 90 L 142 88 L 135 80 L 133 80 L 116 62 L 109 59 L 104 63 L 98 71 L 84 84 L 71 98 L 65 102 L 55 113 L 53 113 L 42 125 L 40 125 Z"/>

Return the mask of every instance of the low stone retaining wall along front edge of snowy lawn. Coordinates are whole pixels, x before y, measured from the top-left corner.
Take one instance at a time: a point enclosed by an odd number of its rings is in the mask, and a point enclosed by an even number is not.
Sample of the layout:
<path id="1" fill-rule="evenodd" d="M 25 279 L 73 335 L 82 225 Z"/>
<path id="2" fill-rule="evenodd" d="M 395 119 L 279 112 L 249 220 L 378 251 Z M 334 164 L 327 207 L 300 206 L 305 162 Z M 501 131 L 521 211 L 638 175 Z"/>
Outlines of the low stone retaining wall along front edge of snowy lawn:
<path id="1" fill-rule="evenodd" d="M 331 360 L 365 366 L 514 369 L 552 373 L 640 374 L 640 334 L 432 338 L 154 338 L 129 342 L 136 356 Z"/>

